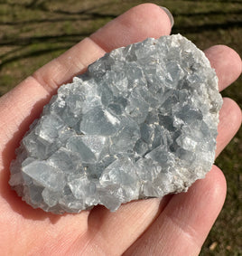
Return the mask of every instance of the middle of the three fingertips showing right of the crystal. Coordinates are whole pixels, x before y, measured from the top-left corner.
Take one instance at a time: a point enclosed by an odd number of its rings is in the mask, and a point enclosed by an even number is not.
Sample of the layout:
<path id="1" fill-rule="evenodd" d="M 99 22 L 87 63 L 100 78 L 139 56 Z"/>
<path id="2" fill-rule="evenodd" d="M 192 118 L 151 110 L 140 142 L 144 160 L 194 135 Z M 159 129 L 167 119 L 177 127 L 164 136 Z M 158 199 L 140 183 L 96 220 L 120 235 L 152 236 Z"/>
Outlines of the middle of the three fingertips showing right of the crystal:
<path id="1" fill-rule="evenodd" d="M 234 100 L 223 99 L 223 106 L 219 112 L 219 128 L 217 137 L 216 156 L 228 145 L 241 125 L 242 114 Z"/>

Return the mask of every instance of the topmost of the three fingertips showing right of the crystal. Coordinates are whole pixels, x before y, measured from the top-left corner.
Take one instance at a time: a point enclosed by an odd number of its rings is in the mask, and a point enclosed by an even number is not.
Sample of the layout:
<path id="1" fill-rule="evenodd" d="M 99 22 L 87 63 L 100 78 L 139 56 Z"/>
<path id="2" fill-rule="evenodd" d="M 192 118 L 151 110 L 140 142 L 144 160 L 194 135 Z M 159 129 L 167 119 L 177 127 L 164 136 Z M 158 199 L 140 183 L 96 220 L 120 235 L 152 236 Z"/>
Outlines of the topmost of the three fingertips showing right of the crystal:
<path id="1" fill-rule="evenodd" d="M 242 71 L 242 62 L 237 52 L 226 45 L 215 45 L 207 49 L 205 54 L 219 77 L 219 90 L 224 90 L 237 80 Z"/>

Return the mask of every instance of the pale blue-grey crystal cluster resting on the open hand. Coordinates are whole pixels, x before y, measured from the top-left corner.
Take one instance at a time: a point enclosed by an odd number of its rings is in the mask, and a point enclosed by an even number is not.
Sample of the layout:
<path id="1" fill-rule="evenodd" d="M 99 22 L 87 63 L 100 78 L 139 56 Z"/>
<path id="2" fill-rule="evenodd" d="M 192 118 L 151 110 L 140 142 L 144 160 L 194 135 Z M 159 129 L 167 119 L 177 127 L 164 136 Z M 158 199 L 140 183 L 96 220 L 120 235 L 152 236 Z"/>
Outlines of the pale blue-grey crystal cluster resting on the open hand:
<path id="1" fill-rule="evenodd" d="M 44 107 L 9 183 L 52 213 L 186 191 L 214 161 L 221 104 L 208 59 L 180 34 L 116 49 Z"/>

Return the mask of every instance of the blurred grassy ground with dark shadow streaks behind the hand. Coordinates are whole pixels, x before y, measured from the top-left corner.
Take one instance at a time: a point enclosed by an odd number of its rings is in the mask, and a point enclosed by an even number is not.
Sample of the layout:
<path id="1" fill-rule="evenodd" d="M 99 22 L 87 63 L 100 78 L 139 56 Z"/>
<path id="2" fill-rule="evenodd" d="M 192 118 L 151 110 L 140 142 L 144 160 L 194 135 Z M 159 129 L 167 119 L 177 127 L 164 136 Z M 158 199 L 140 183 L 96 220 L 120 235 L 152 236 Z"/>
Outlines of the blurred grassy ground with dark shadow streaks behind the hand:
<path id="1" fill-rule="evenodd" d="M 172 33 L 181 33 L 201 50 L 227 44 L 241 56 L 242 0 L 150 1 L 174 16 Z M 145 3 L 135 0 L 0 0 L 0 96 L 82 38 Z M 241 78 L 223 96 L 242 108 Z M 1 120 L 1 117 L 0 117 Z M 242 255 L 242 129 L 216 163 L 228 182 L 222 212 L 200 255 Z"/>

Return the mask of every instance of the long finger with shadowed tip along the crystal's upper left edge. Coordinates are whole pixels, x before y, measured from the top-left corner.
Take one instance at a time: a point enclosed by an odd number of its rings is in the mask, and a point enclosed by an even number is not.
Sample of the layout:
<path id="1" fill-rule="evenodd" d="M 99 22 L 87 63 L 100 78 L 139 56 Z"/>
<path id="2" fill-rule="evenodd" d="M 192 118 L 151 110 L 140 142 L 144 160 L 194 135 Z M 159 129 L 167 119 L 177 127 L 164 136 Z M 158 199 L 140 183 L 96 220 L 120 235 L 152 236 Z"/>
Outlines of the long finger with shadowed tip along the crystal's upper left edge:
<path id="1" fill-rule="evenodd" d="M 53 92 L 74 75 L 84 71 L 88 64 L 106 51 L 170 32 L 170 19 L 162 8 L 153 4 L 137 5 L 43 66 L 33 77 Z M 51 71 L 53 68 L 54 74 Z"/>

